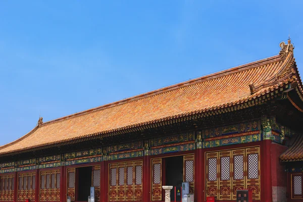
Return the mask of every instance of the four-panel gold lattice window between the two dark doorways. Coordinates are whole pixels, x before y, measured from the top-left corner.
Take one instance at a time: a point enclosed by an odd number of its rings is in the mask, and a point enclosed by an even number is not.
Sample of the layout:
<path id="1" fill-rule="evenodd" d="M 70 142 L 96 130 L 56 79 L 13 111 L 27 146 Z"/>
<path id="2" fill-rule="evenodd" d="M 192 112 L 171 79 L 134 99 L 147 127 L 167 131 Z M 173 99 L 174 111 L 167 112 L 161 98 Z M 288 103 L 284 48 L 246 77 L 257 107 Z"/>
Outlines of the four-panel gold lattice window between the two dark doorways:
<path id="1" fill-rule="evenodd" d="M 142 161 L 109 165 L 109 200 L 142 200 Z"/>

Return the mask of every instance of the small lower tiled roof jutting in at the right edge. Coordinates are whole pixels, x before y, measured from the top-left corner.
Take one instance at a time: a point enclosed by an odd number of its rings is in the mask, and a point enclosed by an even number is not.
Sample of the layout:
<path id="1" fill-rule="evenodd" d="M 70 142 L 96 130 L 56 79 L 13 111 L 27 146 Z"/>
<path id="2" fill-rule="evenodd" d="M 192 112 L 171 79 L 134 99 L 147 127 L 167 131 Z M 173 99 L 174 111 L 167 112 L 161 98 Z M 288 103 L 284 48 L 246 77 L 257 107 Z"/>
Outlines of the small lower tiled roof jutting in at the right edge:
<path id="1" fill-rule="evenodd" d="M 280 156 L 283 162 L 303 161 L 303 135 L 297 134 L 291 141 L 291 146 Z"/>

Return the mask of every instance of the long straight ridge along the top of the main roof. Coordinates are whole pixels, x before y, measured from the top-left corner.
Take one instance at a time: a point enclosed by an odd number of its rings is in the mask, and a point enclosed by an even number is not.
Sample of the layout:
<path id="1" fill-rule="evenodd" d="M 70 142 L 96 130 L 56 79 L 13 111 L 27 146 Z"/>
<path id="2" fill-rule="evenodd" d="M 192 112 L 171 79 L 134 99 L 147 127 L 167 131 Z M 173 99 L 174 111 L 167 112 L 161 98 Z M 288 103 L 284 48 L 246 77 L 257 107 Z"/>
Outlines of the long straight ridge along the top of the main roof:
<path id="1" fill-rule="evenodd" d="M 244 70 L 247 70 L 247 69 L 254 69 L 256 67 L 260 67 L 260 64 L 262 64 L 262 63 L 264 63 L 262 65 L 266 65 L 266 64 L 271 63 L 275 60 L 280 61 L 280 60 L 283 60 L 283 59 L 281 58 L 280 55 L 275 55 L 275 56 L 265 58 L 265 59 L 262 59 L 262 60 L 257 60 L 255 62 L 246 63 L 246 64 L 236 66 L 236 67 L 233 67 L 233 68 L 230 68 L 230 69 L 215 72 L 215 73 L 212 73 L 212 74 L 201 76 L 201 77 L 191 79 L 191 80 L 188 80 L 188 81 L 184 81 L 184 82 L 181 82 L 181 83 L 169 85 L 169 86 L 166 86 L 166 87 L 163 87 L 163 88 L 159 88 L 159 89 L 156 89 L 156 90 L 152 90 L 152 91 L 148 91 L 148 92 L 141 93 L 141 94 L 138 94 L 138 95 L 134 95 L 134 96 L 131 96 L 131 97 L 128 97 L 128 98 L 125 98 L 125 99 L 121 99 L 121 100 L 109 103 L 109 104 L 105 104 L 105 105 L 102 105 L 102 106 L 90 108 L 88 110 L 84 110 L 84 111 L 77 112 L 77 113 L 74 113 L 74 114 L 70 114 L 70 115 L 67 115 L 67 116 L 63 116 L 63 117 L 60 117 L 60 118 L 57 118 L 57 119 L 46 121 L 46 122 L 43 122 L 40 127 L 46 126 L 46 125 L 49 125 L 49 124 L 53 124 L 53 123 L 57 123 L 57 122 L 61 122 L 61 121 L 64 121 L 66 119 L 76 118 L 76 117 L 83 116 L 83 115 L 86 115 L 86 114 L 90 114 L 90 113 L 94 113 L 94 112 L 97 112 L 97 111 L 105 110 L 105 109 L 115 107 L 115 106 L 118 106 L 118 105 L 123 105 L 125 103 L 129 103 L 129 102 L 132 102 L 134 100 L 142 99 L 142 98 L 145 98 L 145 97 L 148 97 L 148 96 L 153 96 L 153 95 L 156 95 L 156 94 L 168 92 L 168 91 L 175 90 L 175 89 L 178 89 L 178 88 L 182 88 L 182 87 L 185 87 L 185 86 L 189 86 L 189 85 L 193 85 L 193 84 L 196 84 L 196 83 L 208 81 L 210 79 L 223 77 L 223 76 L 226 76 L 227 74 L 230 75 L 230 74 L 238 73 L 238 72 L 241 72 L 241 71 L 244 71 Z"/>

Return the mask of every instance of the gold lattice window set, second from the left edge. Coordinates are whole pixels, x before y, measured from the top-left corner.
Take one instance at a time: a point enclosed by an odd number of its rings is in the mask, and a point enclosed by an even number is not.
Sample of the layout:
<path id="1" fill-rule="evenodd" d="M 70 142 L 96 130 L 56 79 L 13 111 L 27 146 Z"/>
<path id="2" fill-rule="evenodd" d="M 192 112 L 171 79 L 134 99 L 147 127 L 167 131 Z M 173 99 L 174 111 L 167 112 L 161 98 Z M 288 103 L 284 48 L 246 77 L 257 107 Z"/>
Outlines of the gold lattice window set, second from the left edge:
<path id="1" fill-rule="evenodd" d="M 36 173 L 21 173 L 18 175 L 18 200 L 35 199 Z"/>

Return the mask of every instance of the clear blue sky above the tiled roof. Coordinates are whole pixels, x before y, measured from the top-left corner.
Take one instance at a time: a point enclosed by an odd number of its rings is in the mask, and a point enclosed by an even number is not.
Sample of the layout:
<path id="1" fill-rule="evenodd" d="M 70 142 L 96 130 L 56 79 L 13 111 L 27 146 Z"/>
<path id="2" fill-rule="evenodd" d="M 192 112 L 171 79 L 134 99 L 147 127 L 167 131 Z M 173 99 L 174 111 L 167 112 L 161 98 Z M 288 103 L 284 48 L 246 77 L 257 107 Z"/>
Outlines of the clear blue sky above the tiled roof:
<path id="1" fill-rule="evenodd" d="M 276 55 L 288 34 L 302 72 L 303 2 L 249 2 L 1 1 L 0 145 L 39 114 L 52 120 Z"/>

